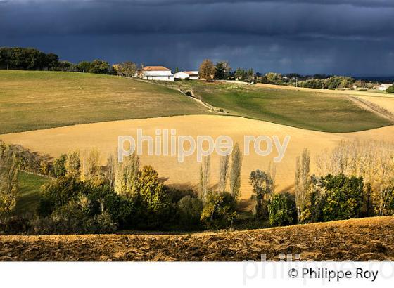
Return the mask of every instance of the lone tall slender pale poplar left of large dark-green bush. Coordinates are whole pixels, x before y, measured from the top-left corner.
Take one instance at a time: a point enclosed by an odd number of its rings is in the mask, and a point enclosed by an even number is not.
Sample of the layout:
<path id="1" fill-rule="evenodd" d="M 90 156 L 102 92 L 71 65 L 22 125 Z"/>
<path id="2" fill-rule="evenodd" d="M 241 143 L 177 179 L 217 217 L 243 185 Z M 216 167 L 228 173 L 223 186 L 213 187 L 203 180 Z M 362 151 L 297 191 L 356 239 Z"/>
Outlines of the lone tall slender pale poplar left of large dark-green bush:
<path id="1" fill-rule="evenodd" d="M 297 206 L 298 219 L 307 206 L 310 196 L 310 152 L 306 148 L 303 154 L 298 156 L 295 164 L 295 204 Z"/>

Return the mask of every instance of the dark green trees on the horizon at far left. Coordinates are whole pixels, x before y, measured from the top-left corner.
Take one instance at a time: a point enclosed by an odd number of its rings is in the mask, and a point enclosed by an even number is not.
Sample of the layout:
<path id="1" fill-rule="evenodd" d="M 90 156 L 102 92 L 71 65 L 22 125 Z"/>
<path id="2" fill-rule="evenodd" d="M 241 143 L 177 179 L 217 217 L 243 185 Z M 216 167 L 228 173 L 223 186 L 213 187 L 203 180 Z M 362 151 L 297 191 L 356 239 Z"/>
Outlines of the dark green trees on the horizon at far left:
<path id="1" fill-rule="evenodd" d="M 113 74 L 113 69 L 104 60 L 71 63 L 59 60 L 58 55 L 44 53 L 35 48 L 1 47 L 0 69 L 12 70 L 51 70 L 68 72 L 89 72 Z"/>

